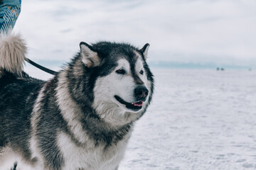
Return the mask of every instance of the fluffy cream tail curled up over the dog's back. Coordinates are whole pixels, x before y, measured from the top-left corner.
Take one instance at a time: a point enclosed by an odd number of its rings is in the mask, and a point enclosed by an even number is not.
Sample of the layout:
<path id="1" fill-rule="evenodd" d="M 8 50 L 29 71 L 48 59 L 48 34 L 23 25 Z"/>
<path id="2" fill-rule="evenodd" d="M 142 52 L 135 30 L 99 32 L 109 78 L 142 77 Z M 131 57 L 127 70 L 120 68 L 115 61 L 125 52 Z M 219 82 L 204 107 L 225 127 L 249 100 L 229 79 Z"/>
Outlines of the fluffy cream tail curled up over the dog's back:
<path id="1" fill-rule="evenodd" d="M 0 68 L 21 76 L 23 62 L 26 60 L 26 43 L 21 35 L 0 34 Z"/>

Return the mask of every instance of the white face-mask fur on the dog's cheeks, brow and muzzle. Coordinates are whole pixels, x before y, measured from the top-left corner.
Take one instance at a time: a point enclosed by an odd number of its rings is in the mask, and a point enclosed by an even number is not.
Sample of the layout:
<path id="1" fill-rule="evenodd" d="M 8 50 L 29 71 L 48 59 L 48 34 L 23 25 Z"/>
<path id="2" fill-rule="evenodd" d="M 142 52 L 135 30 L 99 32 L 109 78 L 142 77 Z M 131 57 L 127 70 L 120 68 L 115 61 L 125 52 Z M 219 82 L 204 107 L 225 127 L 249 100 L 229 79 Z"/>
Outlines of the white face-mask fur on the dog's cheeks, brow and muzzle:
<path id="1" fill-rule="evenodd" d="M 117 69 L 124 69 L 126 74 L 117 74 L 115 72 Z M 149 88 L 151 83 L 147 80 L 146 73 L 144 73 L 144 75 L 139 74 L 142 69 L 144 70 L 142 57 L 138 58 L 135 69 L 144 82 L 144 85 Z M 121 59 L 118 61 L 118 65 L 112 73 L 106 77 L 97 79 L 94 89 L 95 100 L 92 106 L 103 120 L 114 127 L 119 127 L 137 120 L 142 111 L 144 111 L 147 101 L 144 102 L 143 108 L 140 111 L 135 112 L 130 111 L 114 98 L 114 95 L 117 95 L 124 101 L 129 103 L 134 102 L 135 86 L 136 84 L 132 77 L 129 62 L 125 59 Z"/>

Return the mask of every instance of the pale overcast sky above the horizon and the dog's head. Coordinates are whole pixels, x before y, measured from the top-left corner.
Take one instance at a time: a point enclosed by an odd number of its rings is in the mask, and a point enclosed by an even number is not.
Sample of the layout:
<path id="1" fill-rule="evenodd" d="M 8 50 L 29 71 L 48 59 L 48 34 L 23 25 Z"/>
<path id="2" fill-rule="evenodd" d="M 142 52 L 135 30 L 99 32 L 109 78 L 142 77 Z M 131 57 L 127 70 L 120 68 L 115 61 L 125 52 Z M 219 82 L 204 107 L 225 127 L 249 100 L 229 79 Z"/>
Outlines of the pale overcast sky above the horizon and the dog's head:
<path id="1" fill-rule="evenodd" d="M 14 30 L 28 57 L 51 64 L 110 40 L 149 42 L 149 62 L 256 65 L 254 0 L 23 0 Z"/>

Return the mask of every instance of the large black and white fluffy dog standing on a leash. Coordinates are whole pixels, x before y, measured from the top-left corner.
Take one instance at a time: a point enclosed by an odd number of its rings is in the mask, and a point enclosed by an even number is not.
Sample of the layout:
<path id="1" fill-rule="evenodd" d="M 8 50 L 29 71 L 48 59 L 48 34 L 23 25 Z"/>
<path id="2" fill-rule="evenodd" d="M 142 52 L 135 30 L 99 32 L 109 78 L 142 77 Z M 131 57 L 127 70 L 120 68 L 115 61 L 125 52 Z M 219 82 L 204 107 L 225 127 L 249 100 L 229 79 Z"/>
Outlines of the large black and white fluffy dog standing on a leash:
<path id="1" fill-rule="evenodd" d="M 154 91 L 149 44 L 80 43 L 53 79 L 23 72 L 20 35 L 0 40 L 0 169 L 118 169 Z"/>

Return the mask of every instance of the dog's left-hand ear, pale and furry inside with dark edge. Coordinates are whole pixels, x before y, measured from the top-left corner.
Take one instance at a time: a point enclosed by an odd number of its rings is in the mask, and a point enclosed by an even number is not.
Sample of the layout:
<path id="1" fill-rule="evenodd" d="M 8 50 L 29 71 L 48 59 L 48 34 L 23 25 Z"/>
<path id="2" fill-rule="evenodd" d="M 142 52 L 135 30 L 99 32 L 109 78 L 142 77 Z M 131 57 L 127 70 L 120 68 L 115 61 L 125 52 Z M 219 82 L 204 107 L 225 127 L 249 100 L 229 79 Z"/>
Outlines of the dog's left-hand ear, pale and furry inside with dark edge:
<path id="1" fill-rule="evenodd" d="M 92 50 L 92 47 L 85 42 L 80 42 L 80 54 L 82 62 L 86 67 L 96 67 L 100 65 L 100 58 L 97 52 Z"/>

